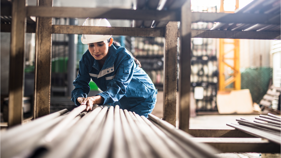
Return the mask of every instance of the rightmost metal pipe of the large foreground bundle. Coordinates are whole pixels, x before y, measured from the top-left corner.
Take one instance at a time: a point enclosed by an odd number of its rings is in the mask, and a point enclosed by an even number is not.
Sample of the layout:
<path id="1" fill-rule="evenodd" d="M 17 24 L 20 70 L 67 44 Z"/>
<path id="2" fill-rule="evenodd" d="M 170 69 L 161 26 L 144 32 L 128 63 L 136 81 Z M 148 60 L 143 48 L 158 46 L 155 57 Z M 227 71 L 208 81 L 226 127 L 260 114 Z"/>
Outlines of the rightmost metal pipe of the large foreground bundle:
<path id="1" fill-rule="evenodd" d="M 179 138 L 180 140 L 184 141 L 187 144 L 190 144 L 194 150 L 197 150 L 198 152 L 201 152 L 203 155 L 206 157 L 215 157 L 211 151 L 217 152 L 214 148 L 210 146 L 204 146 L 204 145 L 198 145 L 197 143 L 193 142 L 189 138 L 192 138 L 190 134 L 182 131 L 182 130 L 177 130 L 173 125 L 169 124 L 168 122 L 159 119 L 158 117 L 148 114 L 148 117 L 152 119 L 154 122 L 159 124 L 161 127 L 163 127 L 165 130 Z"/>

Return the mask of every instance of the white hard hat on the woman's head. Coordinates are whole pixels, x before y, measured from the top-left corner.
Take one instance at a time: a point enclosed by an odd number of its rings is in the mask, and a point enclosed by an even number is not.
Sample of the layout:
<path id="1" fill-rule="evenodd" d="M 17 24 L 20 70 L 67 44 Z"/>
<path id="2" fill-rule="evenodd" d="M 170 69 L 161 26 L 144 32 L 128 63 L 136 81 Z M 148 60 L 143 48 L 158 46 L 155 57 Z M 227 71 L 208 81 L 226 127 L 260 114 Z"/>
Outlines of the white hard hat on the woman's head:
<path id="1" fill-rule="evenodd" d="M 105 27 L 111 27 L 110 23 L 106 19 L 93 19 L 88 18 L 84 22 L 83 26 L 105 26 Z M 112 35 L 82 35 L 81 42 L 83 44 L 88 43 L 96 43 L 100 41 L 105 41 L 109 39 Z"/>

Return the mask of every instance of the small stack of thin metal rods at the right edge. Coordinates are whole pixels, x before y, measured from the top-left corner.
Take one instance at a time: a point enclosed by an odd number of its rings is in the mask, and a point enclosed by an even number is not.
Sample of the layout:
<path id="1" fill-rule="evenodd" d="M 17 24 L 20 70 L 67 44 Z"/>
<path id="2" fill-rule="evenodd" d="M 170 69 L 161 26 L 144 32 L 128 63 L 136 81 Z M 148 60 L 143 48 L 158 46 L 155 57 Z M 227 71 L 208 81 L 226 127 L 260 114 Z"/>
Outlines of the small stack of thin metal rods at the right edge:
<path id="1" fill-rule="evenodd" d="M 241 118 L 236 119 L 239 125 L 233 123 L 226 125 L 281 145 L 281 117 L 268 113 L 267 115 L 259 115 L 255 119 L 260 121 L 249 121 Z"/>

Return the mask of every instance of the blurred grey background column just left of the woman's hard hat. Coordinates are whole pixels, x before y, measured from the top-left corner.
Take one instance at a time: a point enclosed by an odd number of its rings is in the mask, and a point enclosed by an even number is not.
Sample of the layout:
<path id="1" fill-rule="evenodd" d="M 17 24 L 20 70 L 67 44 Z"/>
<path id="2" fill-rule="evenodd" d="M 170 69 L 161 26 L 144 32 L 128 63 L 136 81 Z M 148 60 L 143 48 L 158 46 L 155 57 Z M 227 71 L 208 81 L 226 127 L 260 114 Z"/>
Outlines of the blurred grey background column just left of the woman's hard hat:
<path id="1" fill-rule="evenodd" d="M 76 20 L 73 18 L 69 19 L 69 25 L 76 25 Z M 76 56 L 77 56 L 77 49 L 75 44 L 75 35 L 70 34 L 68 35 L 68 64 L 67 64 L 67 96 L 71 96 L 71 91 L 74 89 L 73 81 L 76 78 Z"/>

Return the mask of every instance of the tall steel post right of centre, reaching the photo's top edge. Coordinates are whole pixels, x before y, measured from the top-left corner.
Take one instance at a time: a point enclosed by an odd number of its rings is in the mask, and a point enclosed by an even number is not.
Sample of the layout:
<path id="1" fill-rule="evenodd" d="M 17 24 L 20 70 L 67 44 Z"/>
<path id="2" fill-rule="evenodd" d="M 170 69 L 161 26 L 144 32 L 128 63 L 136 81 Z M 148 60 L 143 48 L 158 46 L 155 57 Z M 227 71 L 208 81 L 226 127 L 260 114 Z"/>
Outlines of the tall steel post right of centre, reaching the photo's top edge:
<path id="1" fill-rule="evenodd" d="M 179 75 L 179 128 L 189 130 L 189 94 L 191 73 L 191 5 L 187 0 L 181 7 L 181 51 Z"/>

